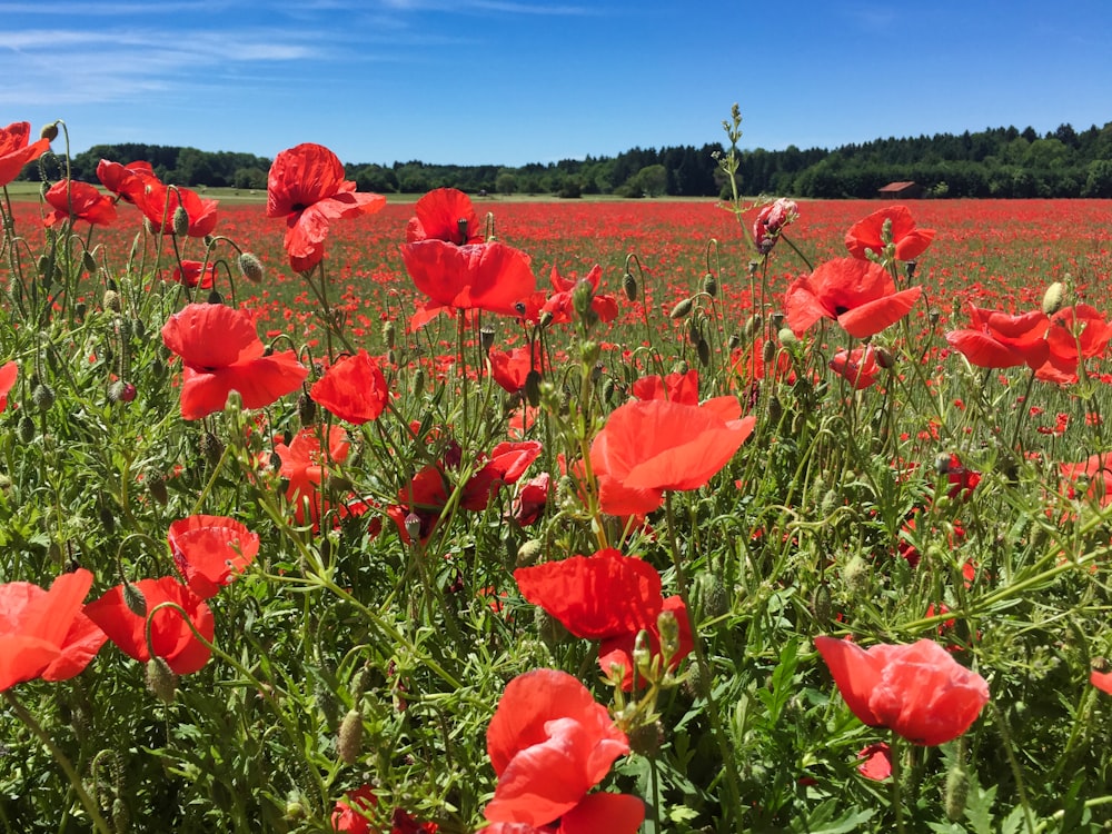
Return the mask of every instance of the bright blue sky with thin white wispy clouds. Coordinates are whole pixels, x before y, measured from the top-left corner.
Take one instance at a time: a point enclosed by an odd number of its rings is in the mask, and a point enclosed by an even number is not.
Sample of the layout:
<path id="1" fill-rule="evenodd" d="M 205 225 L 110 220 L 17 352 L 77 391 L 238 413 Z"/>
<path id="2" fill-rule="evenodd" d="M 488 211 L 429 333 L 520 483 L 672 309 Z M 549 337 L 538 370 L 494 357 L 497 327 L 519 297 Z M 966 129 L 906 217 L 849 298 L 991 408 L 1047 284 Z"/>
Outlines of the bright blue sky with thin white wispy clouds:
<path id="1" fill-rule="evenodd" d="M 0 125 L 520 166 L 1112 121 L 1112 2 L 0 0 Z M 56 143 L 56 149 L 61 149 Z"/>

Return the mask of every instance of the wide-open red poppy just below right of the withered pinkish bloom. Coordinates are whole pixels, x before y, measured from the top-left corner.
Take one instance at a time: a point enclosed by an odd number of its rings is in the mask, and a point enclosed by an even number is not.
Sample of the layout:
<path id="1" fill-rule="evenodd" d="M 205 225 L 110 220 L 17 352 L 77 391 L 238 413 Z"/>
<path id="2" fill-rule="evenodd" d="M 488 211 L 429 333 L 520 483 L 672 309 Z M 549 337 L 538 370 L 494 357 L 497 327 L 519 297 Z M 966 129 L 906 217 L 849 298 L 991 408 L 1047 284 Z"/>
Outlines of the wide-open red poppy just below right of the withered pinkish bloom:
<path id="1" fill-rule="evenodd" d="M 796 278 L 784 304 L 787 325 L 796 336 L 818 319 L 831 318 L 854 338 L 864 339 L 906 316 L 921 295 L 922 287 L 896 292 L 895 281 L 880 264 L 835 258 Z"/>

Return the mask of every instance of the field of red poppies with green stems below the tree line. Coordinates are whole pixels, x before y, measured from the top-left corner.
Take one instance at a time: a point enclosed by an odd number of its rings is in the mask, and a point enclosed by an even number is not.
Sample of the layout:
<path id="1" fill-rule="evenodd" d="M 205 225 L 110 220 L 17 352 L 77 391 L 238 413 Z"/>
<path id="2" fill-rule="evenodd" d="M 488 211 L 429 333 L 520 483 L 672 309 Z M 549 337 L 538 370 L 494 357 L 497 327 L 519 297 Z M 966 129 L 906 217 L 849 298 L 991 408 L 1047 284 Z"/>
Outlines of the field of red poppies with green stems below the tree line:
<path id="1" fill-rule="evenodd" d="M 0 203 L 4 831 L 1112 825 L 1108 201 L 98 175 Z"/>

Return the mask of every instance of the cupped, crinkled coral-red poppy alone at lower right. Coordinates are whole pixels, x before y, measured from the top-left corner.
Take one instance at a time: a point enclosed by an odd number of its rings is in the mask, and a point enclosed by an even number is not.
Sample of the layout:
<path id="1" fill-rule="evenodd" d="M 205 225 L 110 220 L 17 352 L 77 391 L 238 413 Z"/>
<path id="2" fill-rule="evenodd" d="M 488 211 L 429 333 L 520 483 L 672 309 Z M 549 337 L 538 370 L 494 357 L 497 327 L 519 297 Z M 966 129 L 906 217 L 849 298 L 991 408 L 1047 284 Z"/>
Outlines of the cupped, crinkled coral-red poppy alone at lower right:
<path id="1" fill-rule="evenodd" d="M 929 639 L 864 649 L 815 637 L 846 706 L 871 727 L 887 727 L 921 745 L 956 738 L 989 703 L 989 685 Z"/>

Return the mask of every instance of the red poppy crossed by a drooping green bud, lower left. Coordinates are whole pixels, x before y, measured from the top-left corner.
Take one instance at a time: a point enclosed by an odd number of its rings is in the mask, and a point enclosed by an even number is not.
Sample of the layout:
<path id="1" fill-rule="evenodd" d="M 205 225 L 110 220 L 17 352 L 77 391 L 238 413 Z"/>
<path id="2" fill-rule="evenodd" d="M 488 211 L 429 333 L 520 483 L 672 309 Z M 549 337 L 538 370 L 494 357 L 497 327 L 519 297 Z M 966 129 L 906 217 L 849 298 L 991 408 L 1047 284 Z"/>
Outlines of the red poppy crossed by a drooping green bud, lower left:
<path id="1" fill-rule="evenodd" d="M 161 657 L 178 675 L 197 672 L 208 663 L 209 647 L 197 639 L 193 629 L 208 643 L 212 642 L 216 623 L 212 612 L 197 594 L 175 579 L 140 579 L 135 587 L 147 603 L 147 616 L 140 616 L 128 607 L 123 598 L 123 586 L 117 585 L 100 599 L 89 603 L 85 613 L 99 625 L 108 638 L 129 657 L 147 663 L 151 658 L 147 646 L 147 620 L 150 625 L 150 648 L 156 657 Z M 159 608 L 163 603 L 171 605 Z M 158 608 L 156 610 L 156 608 Z M 188 623 L 186 622 L 188 617 Z M 190 624 L 192 628 L 190 628 Z"/>

